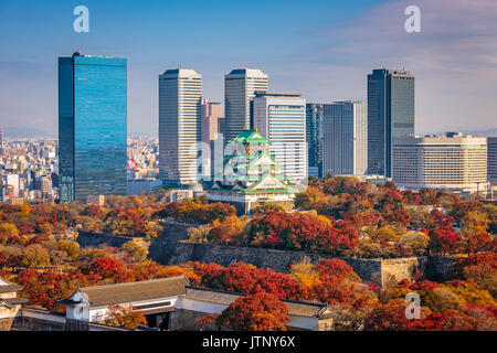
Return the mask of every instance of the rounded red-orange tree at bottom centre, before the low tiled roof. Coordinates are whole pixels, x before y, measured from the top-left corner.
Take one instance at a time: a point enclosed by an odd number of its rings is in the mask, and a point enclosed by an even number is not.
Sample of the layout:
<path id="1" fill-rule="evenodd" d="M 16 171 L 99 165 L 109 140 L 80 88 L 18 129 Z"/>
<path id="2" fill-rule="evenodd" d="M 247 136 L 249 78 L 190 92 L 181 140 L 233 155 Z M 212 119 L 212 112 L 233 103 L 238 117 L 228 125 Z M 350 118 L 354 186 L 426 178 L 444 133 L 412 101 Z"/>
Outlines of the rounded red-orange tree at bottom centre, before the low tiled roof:
<path id="1" fill-rule="evenodd" d="M 286 306 L 266 292 L 237 298 L 218 320 L 236 331 L 286 331 L 290 321 Z"/>

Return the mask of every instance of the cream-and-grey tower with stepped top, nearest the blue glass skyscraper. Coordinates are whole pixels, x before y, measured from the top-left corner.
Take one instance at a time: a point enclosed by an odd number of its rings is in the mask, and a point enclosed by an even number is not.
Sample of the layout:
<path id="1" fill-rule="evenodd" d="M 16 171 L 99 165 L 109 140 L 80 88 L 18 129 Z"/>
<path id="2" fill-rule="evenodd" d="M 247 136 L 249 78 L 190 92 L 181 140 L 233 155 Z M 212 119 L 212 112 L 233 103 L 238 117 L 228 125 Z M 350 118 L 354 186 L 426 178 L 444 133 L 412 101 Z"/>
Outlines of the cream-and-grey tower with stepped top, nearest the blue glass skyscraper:
<path id="1" fill-rule="evenodd" d="M 187 68 L 159 75 L 159 178 L 163 182 L 198 182 L 201 120 L 202 75 Z"/>

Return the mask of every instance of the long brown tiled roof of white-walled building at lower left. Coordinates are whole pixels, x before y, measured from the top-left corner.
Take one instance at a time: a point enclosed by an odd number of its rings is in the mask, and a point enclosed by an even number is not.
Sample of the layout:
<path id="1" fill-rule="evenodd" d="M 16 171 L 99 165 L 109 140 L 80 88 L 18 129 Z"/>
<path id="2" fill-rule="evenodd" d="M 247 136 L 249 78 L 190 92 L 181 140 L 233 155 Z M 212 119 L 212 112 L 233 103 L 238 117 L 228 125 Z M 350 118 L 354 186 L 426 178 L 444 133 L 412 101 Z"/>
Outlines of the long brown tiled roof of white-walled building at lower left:
<path id="1" fill-rule="evenodd" d="M 77 291 L 84 292 L 88 297 L 91 307 L 107 307 L 116 303 L 184 295 L 186 287 L 189 285 L 190 281 L 186 276 L 176 276 L 136 282 L 82 287 Z M 60 303 L 76 303 L 71 299 L 73 295 L 70 298 L 61 300 Z"/>

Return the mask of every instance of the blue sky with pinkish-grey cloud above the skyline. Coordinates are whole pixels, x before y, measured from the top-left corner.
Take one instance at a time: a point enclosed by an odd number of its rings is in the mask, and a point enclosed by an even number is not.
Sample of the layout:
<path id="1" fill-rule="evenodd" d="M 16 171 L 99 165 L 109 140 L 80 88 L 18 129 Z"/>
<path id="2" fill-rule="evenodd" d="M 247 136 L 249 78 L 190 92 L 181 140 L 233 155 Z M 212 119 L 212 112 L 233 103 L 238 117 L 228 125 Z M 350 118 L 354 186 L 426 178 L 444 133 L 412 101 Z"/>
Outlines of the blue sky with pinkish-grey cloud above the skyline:
<path id="1" fill-rule="evenodd" d="M 76 6 L 89 32 L 76 33 Z M 421 32 L 404 13 L 417 6 Z M 366 101 L 373 68 L 415 75 L 416 133 L 497 128 L 495 0 L 0 0 L 0 126 L 57 133 L 57 57 L 128 60 L 128 135 L 157 133 L 158 75 L 202 74 L 223 101 L 224 75 L 248 66 L 269 89 L 308 103 Z"/>

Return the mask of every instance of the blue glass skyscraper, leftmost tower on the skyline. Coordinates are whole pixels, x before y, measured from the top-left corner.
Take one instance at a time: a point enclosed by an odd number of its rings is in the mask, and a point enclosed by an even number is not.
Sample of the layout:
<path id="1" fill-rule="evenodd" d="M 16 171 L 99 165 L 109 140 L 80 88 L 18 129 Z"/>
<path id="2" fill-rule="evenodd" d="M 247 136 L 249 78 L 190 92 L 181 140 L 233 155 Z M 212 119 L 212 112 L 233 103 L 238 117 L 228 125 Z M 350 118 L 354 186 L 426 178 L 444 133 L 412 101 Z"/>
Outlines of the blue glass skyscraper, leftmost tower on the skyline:
<path id="1" fill-rule="evenodd" d="M 126 58 L 59 58 L 61 201 L 126 194 Z"/>

